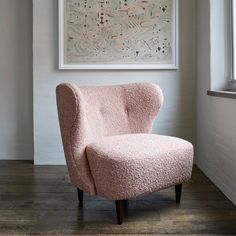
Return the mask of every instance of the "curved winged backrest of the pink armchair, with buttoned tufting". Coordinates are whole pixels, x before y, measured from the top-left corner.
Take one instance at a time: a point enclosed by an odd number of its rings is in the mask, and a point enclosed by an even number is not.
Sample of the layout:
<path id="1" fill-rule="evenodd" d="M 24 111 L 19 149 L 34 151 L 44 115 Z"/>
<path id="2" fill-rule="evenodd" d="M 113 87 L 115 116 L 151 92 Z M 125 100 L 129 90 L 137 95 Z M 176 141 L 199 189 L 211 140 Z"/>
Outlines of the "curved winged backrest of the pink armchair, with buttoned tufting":
<path id="1" fill-rule="evenodd" d="M 57 86 L 57 107 L 71 182 L 96 193 L 85 148 L 96 140 L 127 133 L 149 133 L 163 95 L 152 83 L 78 87 Z"/>

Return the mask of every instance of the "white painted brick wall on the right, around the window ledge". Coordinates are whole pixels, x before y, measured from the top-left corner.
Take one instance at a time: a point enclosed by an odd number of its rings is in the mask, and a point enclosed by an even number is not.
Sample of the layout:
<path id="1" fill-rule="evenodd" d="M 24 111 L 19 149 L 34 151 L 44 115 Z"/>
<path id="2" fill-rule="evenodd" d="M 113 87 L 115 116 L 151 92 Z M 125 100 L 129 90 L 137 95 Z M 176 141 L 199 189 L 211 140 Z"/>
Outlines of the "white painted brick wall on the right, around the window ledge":
<path id="1" fill-rule="evenodd" d="M 217 4 L 216 0 L 212 0 L 211 4 L 213 2 Z M 219 0 L 218 6 L 222 2 Z M 224 19 L 215 12 L 220 7 L 210 5 L 209 0 L 198 0 L 197 3 L 197 164 L 236 204 L 236 100 L 207 96 L 207 89 L 220 87 L 219 81 L 223 83 L 227 75 L 227 68 L 221 65 L 224 63 L 222 55 L 225 54 L 221 53 L 225 50 L 222 38 L 217 39 L 218 43 L 214 41 L 216 37 L 223 37 L 218 34 L 223 31 L 220 28 L 223 24 L 216 22 Z"/>

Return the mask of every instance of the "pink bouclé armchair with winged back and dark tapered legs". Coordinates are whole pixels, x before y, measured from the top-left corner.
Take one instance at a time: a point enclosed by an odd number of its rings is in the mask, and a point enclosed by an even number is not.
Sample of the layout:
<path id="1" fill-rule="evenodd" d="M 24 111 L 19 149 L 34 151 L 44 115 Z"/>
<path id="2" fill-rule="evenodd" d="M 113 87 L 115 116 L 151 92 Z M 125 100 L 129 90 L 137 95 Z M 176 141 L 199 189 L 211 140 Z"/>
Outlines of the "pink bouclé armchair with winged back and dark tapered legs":
<path id="1" fill-rule="evenodd" d="M 151 134 L 163 103 L 152 83 L 57 86 L 57 106 L 69 176 L 78 190 L 115 200 L 117 222 L 126 200 L 191 178 L 193 146 L 180 138 Z"/>

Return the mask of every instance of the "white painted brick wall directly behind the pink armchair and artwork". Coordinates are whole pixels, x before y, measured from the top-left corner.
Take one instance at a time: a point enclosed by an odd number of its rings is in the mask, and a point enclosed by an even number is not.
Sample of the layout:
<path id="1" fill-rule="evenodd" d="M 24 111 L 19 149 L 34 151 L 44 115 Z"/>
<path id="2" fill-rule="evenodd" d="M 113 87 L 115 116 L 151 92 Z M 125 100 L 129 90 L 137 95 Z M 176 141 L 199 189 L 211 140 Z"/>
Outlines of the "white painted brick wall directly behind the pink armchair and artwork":
<path id="1" fill-rule="evenodd" d="M 180 0 L 180 70 L 178 71 L 58 71 L 57 0 L 33 1 L 34 160 L 63 164 L 55 87 L 63 81 L 79 85 L 151 81 L 159 84 L 165 104 L 154 132 L 195 137 L 196 1 Z"/>

